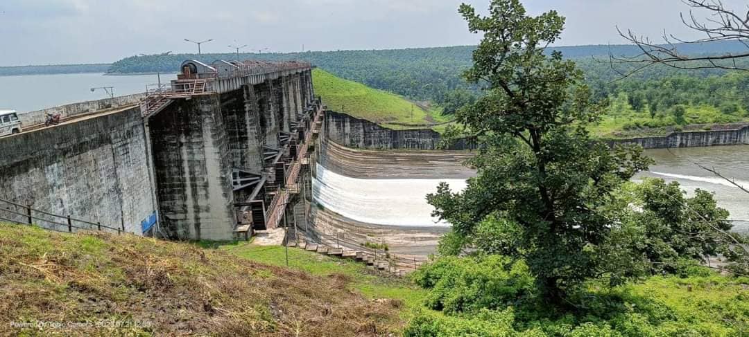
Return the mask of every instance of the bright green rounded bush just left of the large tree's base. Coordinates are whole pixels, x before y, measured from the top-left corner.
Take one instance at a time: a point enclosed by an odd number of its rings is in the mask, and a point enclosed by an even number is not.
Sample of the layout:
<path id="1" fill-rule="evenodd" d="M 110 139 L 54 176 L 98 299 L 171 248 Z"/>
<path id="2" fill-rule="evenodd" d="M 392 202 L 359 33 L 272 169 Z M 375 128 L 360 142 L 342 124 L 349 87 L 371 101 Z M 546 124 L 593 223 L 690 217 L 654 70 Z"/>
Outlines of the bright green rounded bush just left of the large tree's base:
<path id="1" fill-rule="evenodd" d="M 504 256 L 444 257 L 419 268 L 413 280 L 431 289 L 426 306 L 452 314 L 516 305 L 534 288 L 525 262 Z"/>

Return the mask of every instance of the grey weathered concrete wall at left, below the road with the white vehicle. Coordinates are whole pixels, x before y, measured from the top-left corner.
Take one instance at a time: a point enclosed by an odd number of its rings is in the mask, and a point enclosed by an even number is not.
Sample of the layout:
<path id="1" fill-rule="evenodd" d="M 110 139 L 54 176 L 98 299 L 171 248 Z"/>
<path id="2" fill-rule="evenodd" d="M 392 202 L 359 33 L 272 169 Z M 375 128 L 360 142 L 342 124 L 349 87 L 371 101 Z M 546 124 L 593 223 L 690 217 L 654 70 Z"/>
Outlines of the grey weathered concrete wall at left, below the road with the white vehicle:
<path id="1" fill-rule="evenodd" d="M 155 211 L 139 108 L 3 137 L 0 149 L 1 200 L 138 235 Z"/>

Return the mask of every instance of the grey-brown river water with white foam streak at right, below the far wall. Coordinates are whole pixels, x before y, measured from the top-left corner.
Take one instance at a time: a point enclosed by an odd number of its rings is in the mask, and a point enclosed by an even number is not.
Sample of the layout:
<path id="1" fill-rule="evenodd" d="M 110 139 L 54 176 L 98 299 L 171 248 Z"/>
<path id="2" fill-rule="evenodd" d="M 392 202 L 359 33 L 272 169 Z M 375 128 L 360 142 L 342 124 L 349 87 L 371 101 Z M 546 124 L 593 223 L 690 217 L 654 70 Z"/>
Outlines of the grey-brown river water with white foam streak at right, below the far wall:
<path id="1" fill-rule="evenodd" d="M 733 220 L 749 220 L 749 194 L 694 164 L 714 168 L 749 190 L 749 145 L 649 149 L 646 155 L 656 164 L 635 179 L 649 176 L 676 181 L 689 194 L 697 188 L 715 192 L 718 205 L 730 211 Z M 738 232 L 749 232 L 749 221 L 734 226 Z"/>

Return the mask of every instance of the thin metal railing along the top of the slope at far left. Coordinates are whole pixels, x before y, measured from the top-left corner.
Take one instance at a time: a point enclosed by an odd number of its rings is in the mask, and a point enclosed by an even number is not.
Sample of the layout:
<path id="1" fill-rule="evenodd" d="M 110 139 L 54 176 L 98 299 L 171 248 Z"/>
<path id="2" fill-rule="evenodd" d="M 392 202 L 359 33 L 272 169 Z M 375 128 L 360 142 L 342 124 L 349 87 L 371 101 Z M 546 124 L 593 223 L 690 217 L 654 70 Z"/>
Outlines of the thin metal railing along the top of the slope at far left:
<path id="1" fill-rule="evenodd" d="M 100 222 L 81 220 L 71 215 L 53 214 L 32 208 L 31 205 L 20 205 L 7 200 L 0 200 L 0 220 L 8 223 L 37 225 L 58 232 L 73 232 L 73 229 L 117 232 L 117 234 L 124 232 L 124 229 L 119 226 L 106 226 Z"/>

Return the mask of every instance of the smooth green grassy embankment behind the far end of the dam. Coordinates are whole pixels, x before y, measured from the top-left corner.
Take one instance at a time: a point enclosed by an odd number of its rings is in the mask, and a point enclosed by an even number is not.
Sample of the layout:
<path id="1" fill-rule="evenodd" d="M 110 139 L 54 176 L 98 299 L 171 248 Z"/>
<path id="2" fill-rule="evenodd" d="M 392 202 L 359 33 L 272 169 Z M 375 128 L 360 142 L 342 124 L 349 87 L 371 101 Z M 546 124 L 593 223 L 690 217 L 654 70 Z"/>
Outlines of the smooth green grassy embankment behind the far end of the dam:
<path id="1" fill-rule="evenodd" d="M 323 69 L 312 72 L 315 93 L 330 110 L 350 114 L 391 129 L 432 127 L 443 129 L 440 123 L 449 122 L 436 107 L 422 108 L 401 96 L 373 89 L 355 81 L 339 78 Z"/>

